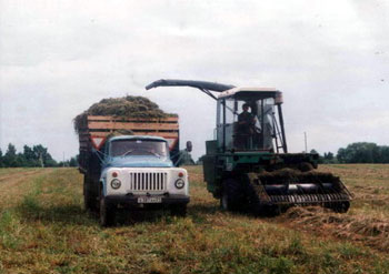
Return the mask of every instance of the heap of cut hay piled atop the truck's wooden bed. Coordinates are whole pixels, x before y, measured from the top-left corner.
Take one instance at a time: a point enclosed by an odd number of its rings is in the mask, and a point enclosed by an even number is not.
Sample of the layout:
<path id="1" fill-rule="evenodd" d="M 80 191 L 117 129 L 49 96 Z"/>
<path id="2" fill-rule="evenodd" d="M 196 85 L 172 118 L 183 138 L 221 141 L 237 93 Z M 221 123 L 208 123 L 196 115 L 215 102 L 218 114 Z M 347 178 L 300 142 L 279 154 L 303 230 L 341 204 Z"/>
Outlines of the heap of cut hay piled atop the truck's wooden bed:
<path id="1" fill-rule="evenodd" d="M 92 104 L 88 110 L 74 118 L 73 123 L 77 133 L 84 128 L 88 115 L 110 115 L 126 119 L 177 116 L 177 114 L 166 113 L 160 110 L 158 104 L 144 97 L 109 98 Z"/>

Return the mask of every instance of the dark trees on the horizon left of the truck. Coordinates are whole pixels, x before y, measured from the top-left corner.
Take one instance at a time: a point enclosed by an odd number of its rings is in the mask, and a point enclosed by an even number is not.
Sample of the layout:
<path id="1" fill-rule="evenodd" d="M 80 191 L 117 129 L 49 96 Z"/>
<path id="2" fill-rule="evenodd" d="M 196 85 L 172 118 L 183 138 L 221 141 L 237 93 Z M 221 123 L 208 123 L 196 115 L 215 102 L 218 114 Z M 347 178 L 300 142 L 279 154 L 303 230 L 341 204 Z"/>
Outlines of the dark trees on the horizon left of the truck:
<path id="1" fill-rule="evenodd" d="M 41 144 L 23 146 L 22 152 L 17 152 L 13 144 L 8 144 L 6 153 L 0 149 L 0 168 L 44 168 L 44 166 L 77 166 L 77 156 L 64 162 L 52 159 L 48 149 Z"/>

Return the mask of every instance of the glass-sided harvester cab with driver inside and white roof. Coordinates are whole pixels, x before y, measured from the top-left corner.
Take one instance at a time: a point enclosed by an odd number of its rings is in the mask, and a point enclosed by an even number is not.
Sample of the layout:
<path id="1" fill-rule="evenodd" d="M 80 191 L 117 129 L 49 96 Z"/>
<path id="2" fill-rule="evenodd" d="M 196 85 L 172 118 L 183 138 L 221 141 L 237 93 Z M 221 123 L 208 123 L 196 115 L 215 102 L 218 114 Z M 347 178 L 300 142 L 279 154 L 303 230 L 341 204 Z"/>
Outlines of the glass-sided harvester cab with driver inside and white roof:
<path id="1" fill-rule="evenodd" d="M 282 93 L 273 89 L 222 92 L 217 99 L 218 151 L 287 152 L 281 103 Z"/>

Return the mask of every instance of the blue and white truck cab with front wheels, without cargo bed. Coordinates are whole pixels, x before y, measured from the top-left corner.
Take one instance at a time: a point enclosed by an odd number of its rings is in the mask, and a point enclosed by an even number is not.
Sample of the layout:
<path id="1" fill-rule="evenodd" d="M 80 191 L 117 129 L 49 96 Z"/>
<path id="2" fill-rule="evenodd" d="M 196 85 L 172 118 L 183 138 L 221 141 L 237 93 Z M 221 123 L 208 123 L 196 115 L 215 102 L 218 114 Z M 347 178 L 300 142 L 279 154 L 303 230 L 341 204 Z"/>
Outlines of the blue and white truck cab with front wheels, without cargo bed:
<path id="1" fill-rule="evenodd" d="M 186 214 L 190 200 L 188 173 L 173 165 L 166 139 L 112 136 L 99 154 L 101 225 L 114 223 L 118 207 L 169 207 L 173 215 Z"/>

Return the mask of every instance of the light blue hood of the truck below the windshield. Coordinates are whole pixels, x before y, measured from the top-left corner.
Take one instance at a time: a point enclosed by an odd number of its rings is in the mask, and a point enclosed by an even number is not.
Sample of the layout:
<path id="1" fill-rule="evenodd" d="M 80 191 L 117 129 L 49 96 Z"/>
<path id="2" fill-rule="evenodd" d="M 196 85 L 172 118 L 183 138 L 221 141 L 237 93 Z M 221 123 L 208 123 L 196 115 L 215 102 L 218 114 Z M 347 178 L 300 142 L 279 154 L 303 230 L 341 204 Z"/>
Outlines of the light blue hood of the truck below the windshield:
<path id="1" fill-rule="evenodd" d="M 168 158 L 157 156 L 126 156 L 126 158 L 110 158 L 103 164 L 106 168 L 172 168 L 173 163 Z"/>

